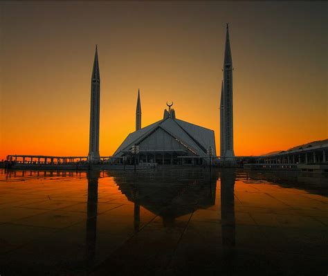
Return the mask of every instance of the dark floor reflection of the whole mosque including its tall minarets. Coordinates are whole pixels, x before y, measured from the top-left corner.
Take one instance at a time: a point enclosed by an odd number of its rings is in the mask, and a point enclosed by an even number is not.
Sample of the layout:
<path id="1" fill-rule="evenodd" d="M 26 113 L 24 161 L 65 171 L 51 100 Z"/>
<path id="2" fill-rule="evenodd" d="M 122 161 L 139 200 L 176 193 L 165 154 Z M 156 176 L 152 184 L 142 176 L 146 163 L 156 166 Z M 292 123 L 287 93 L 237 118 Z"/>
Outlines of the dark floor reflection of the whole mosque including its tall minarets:
<path id="1" fill-rule="evenodd" d="M 134 229 L 140 228 L 140 205 L 163 219 L 164 227 L 174 226 L 175 219 L 190 214 L 194 208 L 206 209 L 215 205 L 217 178 L 221 176 L 221 230 L 224 254 L 224 269 L 228 272 L 233 269 L 235 248 L 235 208 L 234 186 L 235 171 L 224 169 L 221 174 L 212 172 L 190 172 L 181 170 L 173 172 L 172 179 L 178 181 L 170 183 L 167 171 L 145 174 L 120 174 L 114 176 L 122 194 L 134 203 Z M 178 175 L 176 175 L 178 174 Z M 112 175 L 112 174 L 111 174 Z M 98 178 L 100 172 L 90 171 L 88 179 L 88 204 L 86 221 L 86 270 L 91 271 L 95 265 L 95 246 L 97 232 L 97 203 Z M 173 182 L 173 181 L 172 181 Z M 218 214 L 219 218 L 219 214 Z M 132 218 L 131 218 L 132 219 Z M 134 250 L 127 244 L 125 250 Z M 123 246 L 124 247 L 124 246 Z M 154 248 L 156 251 L 156 248 Z M 129 260 L 127 260 L 129 261 Z M 100 266 L 100 271 L 115 271 L 113 263 L 107 262 Z"/>

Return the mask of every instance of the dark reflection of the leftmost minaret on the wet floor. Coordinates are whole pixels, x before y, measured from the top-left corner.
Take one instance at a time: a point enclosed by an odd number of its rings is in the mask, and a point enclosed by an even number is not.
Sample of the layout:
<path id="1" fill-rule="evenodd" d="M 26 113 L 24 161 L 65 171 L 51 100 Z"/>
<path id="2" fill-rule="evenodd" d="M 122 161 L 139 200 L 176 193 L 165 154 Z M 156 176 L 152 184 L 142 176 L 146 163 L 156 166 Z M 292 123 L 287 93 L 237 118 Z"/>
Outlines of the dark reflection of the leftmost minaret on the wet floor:
<path id="1" fill-rule="evenodd" d="M 99 171 L 86 172 L 88 179 L 88 203 L 86 213 L 86 269 L 91 270 L 95 261 L 95 239 L 97 233 L 98 178 Z"/>

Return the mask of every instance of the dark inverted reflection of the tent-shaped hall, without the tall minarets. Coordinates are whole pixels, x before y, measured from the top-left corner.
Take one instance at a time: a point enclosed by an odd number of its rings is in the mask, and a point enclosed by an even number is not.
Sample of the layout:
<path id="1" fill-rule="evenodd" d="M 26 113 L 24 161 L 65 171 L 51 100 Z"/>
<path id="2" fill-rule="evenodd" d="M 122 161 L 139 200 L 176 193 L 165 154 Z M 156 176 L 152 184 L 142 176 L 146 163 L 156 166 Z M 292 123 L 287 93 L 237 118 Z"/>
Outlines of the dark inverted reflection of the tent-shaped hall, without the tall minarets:
<path id="1" fill-rule="evenodd" d="M 174 224 L 174 219 L 194 210 L 194 205 L 206 208 L 215 205 L 216 178 L 202 179 L 203 172 L 190 176 L 185 170 L 176 175 L 179 181 L 168 181 L 170 176 L 159 174 L 114 175 L 122 194 L 134 202 L 135 221 L 140 217 L 140 205 L 163 219 L 164 226 Z M 174 179 L 174 176 L 172 176 Z"/>

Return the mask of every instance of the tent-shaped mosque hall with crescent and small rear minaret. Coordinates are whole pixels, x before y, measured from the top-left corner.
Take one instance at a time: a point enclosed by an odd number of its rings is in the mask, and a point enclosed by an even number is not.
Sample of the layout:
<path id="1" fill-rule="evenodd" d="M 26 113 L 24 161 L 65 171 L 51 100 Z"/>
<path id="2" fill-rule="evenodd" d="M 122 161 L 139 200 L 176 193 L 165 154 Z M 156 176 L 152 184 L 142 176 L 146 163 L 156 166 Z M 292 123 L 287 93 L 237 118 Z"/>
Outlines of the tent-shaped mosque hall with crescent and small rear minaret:
<path id="1" fill-rule="evenodd" d="M 139 92 L 136 131 L 125 138 L 113 154 L 113 158 L 126 156 L 127 163 L 132 163 L 131 147 L 134 145 L 139 146 L 138 163 L 203 165 L 204 160 L 208 159 L 208 149 L 212 149 L 212 156 L 216 156 L 214 131 L 177 119 L 172 104 L 167 104 L 168 110 L 164 110 L 162 120 L 140 128 Z"/>

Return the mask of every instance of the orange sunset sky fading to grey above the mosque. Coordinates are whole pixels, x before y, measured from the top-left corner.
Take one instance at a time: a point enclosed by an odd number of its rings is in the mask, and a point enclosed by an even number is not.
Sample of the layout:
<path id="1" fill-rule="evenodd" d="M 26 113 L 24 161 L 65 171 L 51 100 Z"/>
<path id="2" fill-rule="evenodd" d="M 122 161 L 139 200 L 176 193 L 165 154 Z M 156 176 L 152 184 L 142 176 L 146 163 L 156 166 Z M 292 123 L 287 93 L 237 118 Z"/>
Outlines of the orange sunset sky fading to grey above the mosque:
<path id="1" fill-rule="evenodd" d="M 86 156 L 95 44 L 100 154 L 135 129 L 176 117 L 215 130 L 225 23 L 233 54 L 235 154 L 328 137 L 327 3 L 1 2 L 0 160 Z"/>

